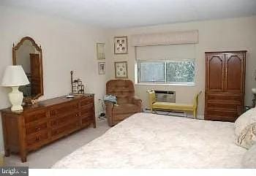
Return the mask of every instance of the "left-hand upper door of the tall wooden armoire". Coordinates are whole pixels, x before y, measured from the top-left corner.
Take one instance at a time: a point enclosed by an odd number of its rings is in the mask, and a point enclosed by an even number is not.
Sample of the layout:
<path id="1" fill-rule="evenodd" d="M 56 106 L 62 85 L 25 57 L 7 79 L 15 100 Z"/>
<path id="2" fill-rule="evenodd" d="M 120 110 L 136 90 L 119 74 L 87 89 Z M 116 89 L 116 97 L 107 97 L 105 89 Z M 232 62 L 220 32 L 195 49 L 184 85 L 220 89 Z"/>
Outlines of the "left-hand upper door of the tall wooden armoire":
<path id="1" fill-rule="evenodd" d="M 206 91 L 224 91 L 225 57 L 223 53 L 206 53 Z"/>

